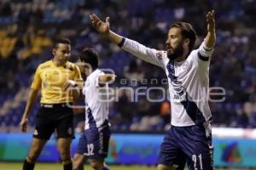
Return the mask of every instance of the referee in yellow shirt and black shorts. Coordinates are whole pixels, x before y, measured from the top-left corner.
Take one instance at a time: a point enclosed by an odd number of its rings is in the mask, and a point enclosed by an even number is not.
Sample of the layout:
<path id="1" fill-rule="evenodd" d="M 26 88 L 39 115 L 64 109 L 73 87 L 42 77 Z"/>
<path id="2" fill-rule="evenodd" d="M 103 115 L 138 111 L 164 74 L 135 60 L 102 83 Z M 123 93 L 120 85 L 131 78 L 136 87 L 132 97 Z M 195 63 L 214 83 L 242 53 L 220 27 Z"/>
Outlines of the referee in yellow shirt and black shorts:
<path id="1" fill-rule="evenodd" d="M 82 82 L 82 77 L 79 67 L 67 61 L 71 54 L 71 43 L 68 39 L 57 40 L 53 54 L 53 59 L 38 65 L 20 121 L 21 131 L 26 132 L 28 116 L 41 90 L 41 107 L 23 170 L 34 168 L 44 144 L 54 131 L 57 133 L 57 146 L 63 169 L 72 170 L 70 145 L 74 135 L 73 109 L 70 106 L 79 98 L 79 82 Z"/>

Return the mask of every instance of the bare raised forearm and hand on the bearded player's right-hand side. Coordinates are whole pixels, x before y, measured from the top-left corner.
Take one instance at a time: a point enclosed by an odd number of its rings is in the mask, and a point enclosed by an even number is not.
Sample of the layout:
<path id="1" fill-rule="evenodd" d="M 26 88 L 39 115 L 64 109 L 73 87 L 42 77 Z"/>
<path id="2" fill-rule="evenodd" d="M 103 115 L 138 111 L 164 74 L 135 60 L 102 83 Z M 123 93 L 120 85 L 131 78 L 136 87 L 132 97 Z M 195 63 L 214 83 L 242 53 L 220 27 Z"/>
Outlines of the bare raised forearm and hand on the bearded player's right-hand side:
<path id="1" fill-rule="evenodd" d="M 205 43 L 207 48 L 213 48 L 216 41 L 215 33 L 215 11 L 209 11 L 207 13 L 207 37 Z"/>

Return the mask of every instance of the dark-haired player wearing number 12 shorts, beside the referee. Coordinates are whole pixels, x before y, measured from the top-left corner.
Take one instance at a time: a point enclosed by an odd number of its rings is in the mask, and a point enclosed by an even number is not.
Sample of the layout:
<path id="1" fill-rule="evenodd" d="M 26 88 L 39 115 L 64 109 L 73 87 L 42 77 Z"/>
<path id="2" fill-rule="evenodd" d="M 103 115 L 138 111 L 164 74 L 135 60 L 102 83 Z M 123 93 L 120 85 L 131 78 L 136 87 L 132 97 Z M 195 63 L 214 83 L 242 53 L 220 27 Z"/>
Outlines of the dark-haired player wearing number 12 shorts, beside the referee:
<path id="1" fill-rule="evenodd" d="M 73 170 L 84 170 L 84 161 L 88 158 L 94 169 L 108 170 L 104 163 L 110 139 L 108 83 L 114 81 L 115 75 L 98 69 L 98 54 L 92 48 L 83 50 L 78 65 L 87 76 L 83 88 L 85 125 L 74 156 Z"/>

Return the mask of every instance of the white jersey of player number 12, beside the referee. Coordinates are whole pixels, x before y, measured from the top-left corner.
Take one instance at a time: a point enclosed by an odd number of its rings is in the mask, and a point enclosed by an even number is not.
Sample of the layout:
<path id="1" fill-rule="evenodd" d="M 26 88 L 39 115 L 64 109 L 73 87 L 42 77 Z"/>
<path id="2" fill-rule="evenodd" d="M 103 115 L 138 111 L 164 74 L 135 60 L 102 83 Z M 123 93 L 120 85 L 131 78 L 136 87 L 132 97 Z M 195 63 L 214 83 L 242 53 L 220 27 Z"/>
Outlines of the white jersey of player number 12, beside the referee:
<path id="1" fill-rule="evenodd" d="M 96 69 L 84 83 L 85 130 L 94 127 L 101 129 L 108 124 L 108 83 L 100 86 L 99 77 L 102 75 L 104 73 Z"/>

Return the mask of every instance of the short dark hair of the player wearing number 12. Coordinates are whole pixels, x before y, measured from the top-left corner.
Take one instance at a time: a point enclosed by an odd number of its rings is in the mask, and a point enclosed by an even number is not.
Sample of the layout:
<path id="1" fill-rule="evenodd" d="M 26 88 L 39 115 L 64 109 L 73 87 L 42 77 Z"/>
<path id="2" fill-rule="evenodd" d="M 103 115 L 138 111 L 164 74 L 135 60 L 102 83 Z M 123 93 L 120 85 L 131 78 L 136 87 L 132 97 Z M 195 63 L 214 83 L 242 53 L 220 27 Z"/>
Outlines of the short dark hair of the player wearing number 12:
<path id="1" fill-rule="evenodd" d="M 96 69 L 99 67 L 99 54 L 93 48 L 84 48 L 82 53 L 79 56 L 79 59 L 88 63 L 92 69 Z"/>

